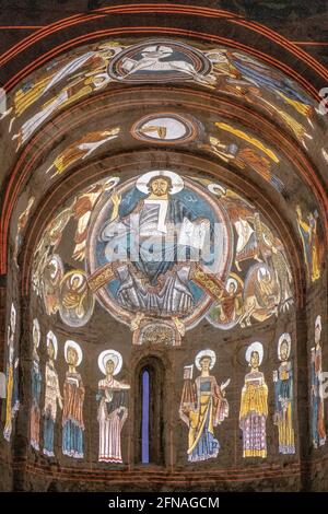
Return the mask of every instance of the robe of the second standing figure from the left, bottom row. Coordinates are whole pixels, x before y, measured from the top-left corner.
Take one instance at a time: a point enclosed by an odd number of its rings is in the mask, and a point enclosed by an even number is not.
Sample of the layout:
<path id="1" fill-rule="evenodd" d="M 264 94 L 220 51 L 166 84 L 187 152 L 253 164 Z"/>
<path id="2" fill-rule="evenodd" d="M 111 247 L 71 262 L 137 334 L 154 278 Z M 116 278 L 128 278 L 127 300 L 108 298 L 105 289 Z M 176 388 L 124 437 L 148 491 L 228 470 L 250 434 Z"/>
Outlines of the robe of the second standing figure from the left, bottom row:
<path id="1" fill-rule="evenodd" d="M 39 451 L 39 423 L 40 423 L 40 393 L 42 393 L 42 372 L 39 369 L 39 357 L 36 352 L 33 355 L 31 369 L 31 388 L 32 388 L 32 407 L 31 407 L 31 446 Z"/>

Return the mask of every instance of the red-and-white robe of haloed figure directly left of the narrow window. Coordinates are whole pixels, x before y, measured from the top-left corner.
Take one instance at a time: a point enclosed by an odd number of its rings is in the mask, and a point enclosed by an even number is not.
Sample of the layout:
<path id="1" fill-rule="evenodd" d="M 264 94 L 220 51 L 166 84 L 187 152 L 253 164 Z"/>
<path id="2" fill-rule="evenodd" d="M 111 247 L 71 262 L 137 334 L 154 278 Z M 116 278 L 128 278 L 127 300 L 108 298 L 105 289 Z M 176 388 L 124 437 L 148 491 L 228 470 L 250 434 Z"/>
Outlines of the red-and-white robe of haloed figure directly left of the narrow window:
<path id="1" fill-rule="evenodd" d="M 129 385 L 114 378 L 104 378 L 98 383 L 99 463 L 122 463 L 121 430 L 128 417 L 129 388 Z"/>

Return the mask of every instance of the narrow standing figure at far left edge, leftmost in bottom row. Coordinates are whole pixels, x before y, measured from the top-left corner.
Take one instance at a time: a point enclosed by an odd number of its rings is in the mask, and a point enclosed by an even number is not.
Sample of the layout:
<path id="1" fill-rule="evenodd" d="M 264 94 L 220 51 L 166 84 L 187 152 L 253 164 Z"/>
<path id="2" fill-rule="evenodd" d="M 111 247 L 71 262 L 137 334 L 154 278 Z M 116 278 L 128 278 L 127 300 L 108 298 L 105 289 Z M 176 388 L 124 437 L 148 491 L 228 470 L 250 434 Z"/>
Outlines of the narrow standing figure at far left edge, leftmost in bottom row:
<path id="1" fill-rule="evenodd" d="M 8 327 L 8 357 L 7 357 L 7 404 L 5 404 L 5 424 L 3 437 L 10 441 L 13 420 L 20 408 L 19 399 L 19 358 L 15 358 L 14 337 L 16 328 L 16 309 L 11 305 L 10 326 Z"/>

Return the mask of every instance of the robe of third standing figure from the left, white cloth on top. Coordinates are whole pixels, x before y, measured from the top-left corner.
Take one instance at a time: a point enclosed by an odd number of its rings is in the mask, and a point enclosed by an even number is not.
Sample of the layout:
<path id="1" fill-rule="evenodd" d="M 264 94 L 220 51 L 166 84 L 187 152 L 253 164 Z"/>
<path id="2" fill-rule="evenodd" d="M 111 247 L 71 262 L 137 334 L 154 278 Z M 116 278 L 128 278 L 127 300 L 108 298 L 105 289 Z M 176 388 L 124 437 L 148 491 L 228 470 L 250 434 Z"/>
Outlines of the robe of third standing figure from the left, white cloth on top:
<path id="1" fill-rule="evenodd" d="M 54 434 L 57 418 L 57 401 L 61 405 L 58 374 L 51 361 L 46 364 L 44 409 L 44 454 L 54 457 Z"/>

